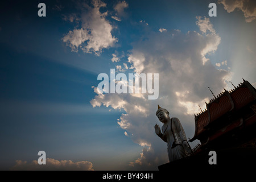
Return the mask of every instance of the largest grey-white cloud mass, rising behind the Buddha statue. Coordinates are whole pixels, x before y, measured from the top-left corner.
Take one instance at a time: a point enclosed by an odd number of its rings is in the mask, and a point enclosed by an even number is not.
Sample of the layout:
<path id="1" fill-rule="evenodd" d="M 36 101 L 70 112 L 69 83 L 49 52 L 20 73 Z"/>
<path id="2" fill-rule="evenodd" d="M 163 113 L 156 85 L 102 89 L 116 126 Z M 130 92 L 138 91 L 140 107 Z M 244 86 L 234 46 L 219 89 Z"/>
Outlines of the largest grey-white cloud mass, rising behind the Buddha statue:
<path id="1" fill-rule="evenodd" d="M 159 73 L 158 100 L 147 100 L 145 94 L 97 94 L 90 101 L 93 107 L 124 111 L 117 121 L 119 127 L 143 147 L 138 159 L 130 163 L 131 169 L 157 169 L 168 162 L 166 143 L 154 130 L 155 123 L 161 125 L 155 115 L 158 104 L 179 118 L 187 137 L 192 138 L 193 113 L 200 111 L 198 104 L 204 107 L 211 98 L 208 86 L 214 93 L 226 87 L 230 73 L 216 69 L 206 57 L 216 51 L 220 36 L 208 18 L 197 17 L 196 24 L 200 32 L 147 32 L 147 39 L 133 43 L 127 62 L 135 73 Z"/>

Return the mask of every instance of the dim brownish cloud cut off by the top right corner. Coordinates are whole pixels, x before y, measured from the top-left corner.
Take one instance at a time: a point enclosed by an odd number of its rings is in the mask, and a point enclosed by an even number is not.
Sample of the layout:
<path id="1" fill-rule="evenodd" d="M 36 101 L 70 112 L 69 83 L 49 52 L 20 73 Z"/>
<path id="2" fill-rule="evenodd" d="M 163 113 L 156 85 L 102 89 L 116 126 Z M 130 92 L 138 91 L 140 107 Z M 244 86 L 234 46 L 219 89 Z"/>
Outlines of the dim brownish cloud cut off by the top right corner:
<path id="1" fill-rule="evenodd" d="M 243 12 L 246 22 L 252 22 L 256 19 L 256 1 L 254 0 L 219 0 L 224 5 L 228 13 L 238 9 Z"/>

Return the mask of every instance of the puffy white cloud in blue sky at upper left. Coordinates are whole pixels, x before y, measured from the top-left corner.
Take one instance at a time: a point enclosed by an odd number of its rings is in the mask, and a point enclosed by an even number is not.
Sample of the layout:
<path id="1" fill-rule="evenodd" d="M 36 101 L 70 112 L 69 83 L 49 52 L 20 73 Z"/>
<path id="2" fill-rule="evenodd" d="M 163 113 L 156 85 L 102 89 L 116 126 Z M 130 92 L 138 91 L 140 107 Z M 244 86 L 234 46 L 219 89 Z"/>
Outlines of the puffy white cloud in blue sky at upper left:
<path id="1" fill-rule="evenodd" d="M 108 11 L 100 12 L 100 8 L 105 7 L 106 4 L 100 0 L 94 0 L 92 5 L 93 7 L 85 5 L 81 13 L 79 18 L 81 28 L 69 31 L 62 40 L 74 52 L 81 48 L 86 53 L 94 52 L 100 55 L 102 49 L 113 47 L 117 38 L 112 35 L 113 26 L 106 20 Z M 68 16 L 67 19 L 73 21 L 72 17 L 74 16 Z"/>

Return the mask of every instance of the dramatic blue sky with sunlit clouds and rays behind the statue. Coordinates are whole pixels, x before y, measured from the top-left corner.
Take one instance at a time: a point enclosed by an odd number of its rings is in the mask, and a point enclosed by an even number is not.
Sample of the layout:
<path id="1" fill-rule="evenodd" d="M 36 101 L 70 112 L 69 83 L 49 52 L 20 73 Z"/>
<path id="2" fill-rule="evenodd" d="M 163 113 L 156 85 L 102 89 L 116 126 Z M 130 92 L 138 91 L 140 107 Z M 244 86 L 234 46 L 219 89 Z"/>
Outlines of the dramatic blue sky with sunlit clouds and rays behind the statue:
<path id="1" fill-rule="evenodd" d="M 192 138 L 208 86 L 256 85 L 253 0 L 1 1 L 0 15 L 0 169 L 157 170 L 158 104 Z M 158 73 L 159 97 L 98 92 L 110 69 Z"/>

